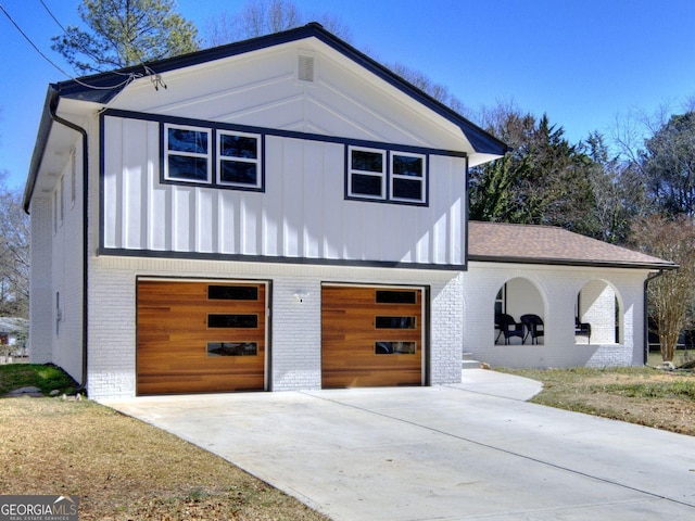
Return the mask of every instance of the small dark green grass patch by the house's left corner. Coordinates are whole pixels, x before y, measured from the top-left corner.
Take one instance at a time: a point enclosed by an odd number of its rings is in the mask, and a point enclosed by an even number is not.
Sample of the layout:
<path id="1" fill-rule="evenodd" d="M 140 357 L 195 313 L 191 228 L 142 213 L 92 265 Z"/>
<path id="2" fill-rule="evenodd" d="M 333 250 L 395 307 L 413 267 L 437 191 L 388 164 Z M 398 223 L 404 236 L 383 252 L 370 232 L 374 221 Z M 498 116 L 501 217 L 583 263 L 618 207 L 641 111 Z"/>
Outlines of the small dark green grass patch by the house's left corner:
<path id="1" fill-rule="evenodd" d="M 77 383 L 60 367 L 41 364 L 5 364 L 0 366 L 0 396 L 20 387 L 34 386 L 48 395 L 53 390 L 72 393 Z"/>

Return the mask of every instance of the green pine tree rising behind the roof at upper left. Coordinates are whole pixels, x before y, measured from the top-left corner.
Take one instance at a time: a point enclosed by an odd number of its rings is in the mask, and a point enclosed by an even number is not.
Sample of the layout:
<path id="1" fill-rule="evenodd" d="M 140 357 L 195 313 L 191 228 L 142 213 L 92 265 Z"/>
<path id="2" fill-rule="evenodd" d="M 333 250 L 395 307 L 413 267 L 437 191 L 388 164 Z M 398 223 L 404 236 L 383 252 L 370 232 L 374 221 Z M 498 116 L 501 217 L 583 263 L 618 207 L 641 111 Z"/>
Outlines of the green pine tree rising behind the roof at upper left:
<path id="1" fill-rule="evenodd" d="M 67 26 L 51 38 L 80 74 L 99 73 L 198 50 L 198 30 L 175 12 L 174 0 L 83 0 L 87 30 Z"/>

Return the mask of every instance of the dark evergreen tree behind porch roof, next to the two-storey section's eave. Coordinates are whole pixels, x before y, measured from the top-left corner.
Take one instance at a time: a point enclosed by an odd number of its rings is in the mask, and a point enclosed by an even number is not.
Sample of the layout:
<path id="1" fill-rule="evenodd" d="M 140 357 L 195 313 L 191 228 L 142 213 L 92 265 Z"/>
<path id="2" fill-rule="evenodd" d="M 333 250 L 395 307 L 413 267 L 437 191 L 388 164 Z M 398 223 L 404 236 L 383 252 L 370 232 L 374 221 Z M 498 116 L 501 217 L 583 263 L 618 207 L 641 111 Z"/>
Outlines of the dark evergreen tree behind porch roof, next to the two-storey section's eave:
<path id="1" fill-rule="evenodd" d="M 483 122 L 513 151 L 471 169 L 470 217 L 561 226 L 594 236 L 593 163 L 565 139 L 564 129 L 546 115 L 536 120 L 508 105 L 483 112 Z"/>

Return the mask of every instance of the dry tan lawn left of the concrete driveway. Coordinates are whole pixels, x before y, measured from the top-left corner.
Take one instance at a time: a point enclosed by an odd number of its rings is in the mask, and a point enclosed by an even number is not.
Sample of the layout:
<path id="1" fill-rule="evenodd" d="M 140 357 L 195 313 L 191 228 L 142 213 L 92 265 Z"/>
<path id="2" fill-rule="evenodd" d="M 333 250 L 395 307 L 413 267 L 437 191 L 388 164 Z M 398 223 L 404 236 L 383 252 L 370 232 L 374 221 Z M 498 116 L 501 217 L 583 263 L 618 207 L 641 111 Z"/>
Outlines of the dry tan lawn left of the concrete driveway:
<path id="1" fill-rule="evenodd" d="M 0 401 L 0 494 L 76 494 L 80 520 L 326 520 L 228 461 L 89 401 Z"/>

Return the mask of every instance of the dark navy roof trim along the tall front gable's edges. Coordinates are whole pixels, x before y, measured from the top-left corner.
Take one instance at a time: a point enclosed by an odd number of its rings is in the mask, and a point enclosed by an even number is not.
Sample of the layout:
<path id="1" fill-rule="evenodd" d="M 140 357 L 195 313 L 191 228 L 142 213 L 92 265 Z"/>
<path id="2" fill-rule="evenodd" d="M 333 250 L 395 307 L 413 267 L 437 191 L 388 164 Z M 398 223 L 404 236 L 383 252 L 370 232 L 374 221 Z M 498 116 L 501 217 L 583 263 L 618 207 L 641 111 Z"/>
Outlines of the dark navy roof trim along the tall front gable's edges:
<path id="1" fill-rule="evenodd" d="M 199 65 L 202 63 L 235 56 L 238 54 L 266 49 L 269 47 L 311 37 L 323 41 L 333 50 L 362 65 L 396 89 L 405 92 L 416 101 L 428 106 L 440 116 L 457 125 L 462 129 L 466 138 L 470 141 L 470 144 L 476 150 L 476 152 L 504 155 L 508 150 L 510 150 L 506 143 L 502 142 L 491 134 L 481 129 L 446 105 L 434 100 L 422 90 L 413 86 L 399 75 L 391 72 L 389 68 L 384 67 L 380 63 L 376 62 L 363 52 L 355 49 L 351 45 L 336 37 L 328 30 L 324 29 L 320 24 L 317 24 L 315 22 L 282 33 L 261 36 L 257 38 L 252 38 L 250 40 L 243 40 L 226 46 L 215 47 L 212 49 L 205 49 L 203 51 L 169 58 L 157 62 L 151 62 L 143 65 L 126 67 L 110 73 L 86 76 L 80 78 L 79 80 L 73 79 L 61 81 L 59 84 L 54 84 L 52 87 L 58 90 L 60 92 L 60 96 L 63 98 L 106 104 L 128 85 L 129 77 L 142 77 L 152 72 L 154 74 L 162 74 L 177 68 Z"/>

